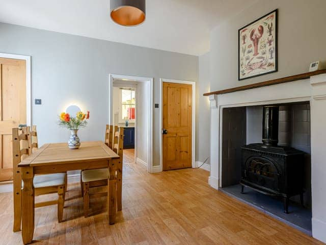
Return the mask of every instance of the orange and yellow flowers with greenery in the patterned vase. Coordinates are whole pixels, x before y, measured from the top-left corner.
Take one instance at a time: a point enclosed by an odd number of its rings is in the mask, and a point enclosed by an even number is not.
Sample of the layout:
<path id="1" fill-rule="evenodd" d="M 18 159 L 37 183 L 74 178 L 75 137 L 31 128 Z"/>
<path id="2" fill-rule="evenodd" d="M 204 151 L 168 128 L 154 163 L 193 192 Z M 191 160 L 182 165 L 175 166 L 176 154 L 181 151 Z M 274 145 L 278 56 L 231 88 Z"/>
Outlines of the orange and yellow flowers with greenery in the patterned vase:
<path id="1" fill-rule="evenodd" d="M 67 128 L 69 130 L 78 130 L 79 128 L 85 128 L 87 125 L 87 119 L 90 118 L 90 112 L 83 113 L 77 112 L 76 117 L 70 117 L 69 113 L 62 112 L 59 116 L 60 127 Z"/>

